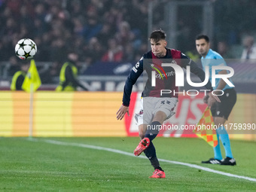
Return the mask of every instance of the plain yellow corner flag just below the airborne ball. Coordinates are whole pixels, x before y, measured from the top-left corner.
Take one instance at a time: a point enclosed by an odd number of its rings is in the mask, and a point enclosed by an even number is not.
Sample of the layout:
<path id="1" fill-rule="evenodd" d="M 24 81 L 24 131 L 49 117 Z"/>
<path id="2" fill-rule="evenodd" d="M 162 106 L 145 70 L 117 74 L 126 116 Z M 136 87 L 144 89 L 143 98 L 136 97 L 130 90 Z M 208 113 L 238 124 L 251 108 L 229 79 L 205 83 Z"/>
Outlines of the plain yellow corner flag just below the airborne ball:
<path id="1" fill-rule="evenodd" d="M 31 86 L 32 85 L 32 86 Z M 23 82 L 23 90 L 26 92 L 35 92 L 41 86 L 41 79 L 38 75 L 38 70 L 35 66 L 35 60 L 30 61 L 29 71 L 26 73 L 26 78 Z"/>

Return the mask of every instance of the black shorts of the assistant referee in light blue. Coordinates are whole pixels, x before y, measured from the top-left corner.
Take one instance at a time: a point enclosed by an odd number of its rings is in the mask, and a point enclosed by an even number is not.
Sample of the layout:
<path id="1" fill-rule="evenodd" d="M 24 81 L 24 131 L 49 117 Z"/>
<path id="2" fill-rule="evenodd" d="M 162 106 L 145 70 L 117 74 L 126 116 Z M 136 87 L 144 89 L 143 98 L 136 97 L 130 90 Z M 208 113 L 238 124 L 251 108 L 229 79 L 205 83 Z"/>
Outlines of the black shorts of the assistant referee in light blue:
<path id="1" fill-rule="evenodd" d="M 236 90 L 224 90 L 222 96 L 218 96 L 221 102 L 215 102 L 212 107 L 212 117 L 224 117 L 226 120 L 230 116 L 233 106 L 236 103 Z"/>

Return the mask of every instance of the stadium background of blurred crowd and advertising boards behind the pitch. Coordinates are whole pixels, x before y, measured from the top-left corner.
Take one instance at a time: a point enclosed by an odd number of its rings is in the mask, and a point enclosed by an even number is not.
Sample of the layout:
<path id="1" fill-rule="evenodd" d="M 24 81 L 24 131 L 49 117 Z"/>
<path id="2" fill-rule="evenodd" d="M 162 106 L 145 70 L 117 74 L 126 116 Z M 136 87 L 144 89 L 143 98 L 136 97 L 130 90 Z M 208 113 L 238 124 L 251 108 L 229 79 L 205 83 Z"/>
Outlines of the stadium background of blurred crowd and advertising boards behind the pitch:
<path id="1" fill-rule="evenodd" d="M 133 89 L 131 116 L 117 121 L 115 112 L 126 75 L 148 50 L 148 33 L 159 28 L 168 33 L 169 47 L 195 60 L 199 58 L 194 46 L 197 34 L 209 34 L 214 50 L 219 42 L 226 43 L 224 57 L 235 70 L 233 81 L 239 93 L 228 123 L 256 123 L 256 65 L 239 60 L 242 39 L 256 35 L 251 24 L 255 23 L 255 8 L 252 0 L 2 0 L 0 135 L 29 136 L 29 93 L 10 92 L 9 87 L 23 62 L 15 56 L 15 44 L 20 38 L 31 38 L 38 46 L 35 61 L 42 81 L 34 97 L 33 136 L 137 136 L 132 117 L 142 80 Z M 53 91 L 69 50 L 79 53 L 79 78 L 90 92 Z M 181 96 L 177 114 L 169 123 L 197 123 L 205 108 L 202 97 Z M 253 130 L 235 133 L 230 136 L 256 140 Z M 165 136 L 194 135 L 168 132 Z"/>

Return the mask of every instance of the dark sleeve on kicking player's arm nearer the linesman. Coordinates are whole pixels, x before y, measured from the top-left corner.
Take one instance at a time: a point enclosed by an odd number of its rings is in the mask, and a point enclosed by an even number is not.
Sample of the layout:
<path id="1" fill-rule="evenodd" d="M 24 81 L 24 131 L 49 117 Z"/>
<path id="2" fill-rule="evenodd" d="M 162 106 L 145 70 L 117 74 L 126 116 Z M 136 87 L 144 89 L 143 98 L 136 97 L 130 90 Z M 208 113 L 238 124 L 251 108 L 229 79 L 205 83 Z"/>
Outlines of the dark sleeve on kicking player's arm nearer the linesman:
<path id="1" fill-rule="evenodd" d="M 181 63 L 182 67 L 184 68 L 186 66 L 190 66 L 190 72 L 194 73 L 194 75 L 197 75 L 197 77 L 199 77 L 202 82 L 205 80 L 206 74 L 205 72 L 203 72 L 203 69 L 197 66 L 197 63 L 190 59 L 188 56 L 186 56 L 184 53 L 181 53 Z M 205 87 L 207 90 L 213 90 L 211 81 L 209 80 Z"/>

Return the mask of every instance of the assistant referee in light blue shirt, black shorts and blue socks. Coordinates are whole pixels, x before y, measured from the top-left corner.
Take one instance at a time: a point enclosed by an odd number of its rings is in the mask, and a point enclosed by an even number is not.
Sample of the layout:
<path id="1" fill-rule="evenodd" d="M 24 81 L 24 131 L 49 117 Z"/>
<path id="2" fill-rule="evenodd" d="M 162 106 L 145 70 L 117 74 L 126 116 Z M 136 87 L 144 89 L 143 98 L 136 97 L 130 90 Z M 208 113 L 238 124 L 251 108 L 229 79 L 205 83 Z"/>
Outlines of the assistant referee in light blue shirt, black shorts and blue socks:
<path id="1" fill-rule="evenodd" d="M 206 35 L 198 35 L 196 38 L 196 47 L 197 52 L 200 53 L 201 62 L 203 65 L 203 69 L 206 69 L 206 66 L 209 66 L 212 69 L 212 66 L 227 66 L 227 63 L 224 61 L 222 56 L 210 49 L 209 37 Z M 212 81 L 212 70 L 209 70 L 210 81 Z M 219 75 L 227 74 L 227 70 L 217 70 Z M 231 81 L 229 79 L 229 81 Z M 232 81 L 231 81 L 232 82 Z M 220 102 L 210 101 L 208 96 L 204 97 L 204 102 L 206 102 L 209 106 L 211 106 L 212 117 L 215 125 L 218 126 L 216 130 L 218 145 L 213 148 L 214 150 L 214 158 L 210 158 L 209 160 L 202 161 L 202 163 L 211 163 L 211 164 L 221 164 L 234 166 L 236 165 L 236 160 L 233 158 L 233 154 L 231 152 L 230 147 L 230 139 L 227 134 L 227 130 L 224 128 L 224 123 L 227 120 L 230 112 L 232 111 L 233 106 L 236 103 L 236 90 L 233 87 L 230 87 L 223 79 L 216 79 L 216 87 L 214 90 L 223 90 L 224 94 L 219 96 L 221 99 Z M 218 94 L 216 92 L 216 94 Z M 224 145 L 226 158 L 222 159 L 221 156 L 221 148 L 219 144 L 219 137 L 221 138 L 221 142 Z"/>

